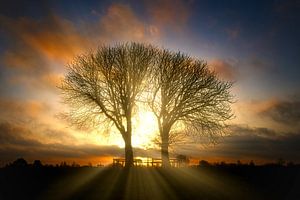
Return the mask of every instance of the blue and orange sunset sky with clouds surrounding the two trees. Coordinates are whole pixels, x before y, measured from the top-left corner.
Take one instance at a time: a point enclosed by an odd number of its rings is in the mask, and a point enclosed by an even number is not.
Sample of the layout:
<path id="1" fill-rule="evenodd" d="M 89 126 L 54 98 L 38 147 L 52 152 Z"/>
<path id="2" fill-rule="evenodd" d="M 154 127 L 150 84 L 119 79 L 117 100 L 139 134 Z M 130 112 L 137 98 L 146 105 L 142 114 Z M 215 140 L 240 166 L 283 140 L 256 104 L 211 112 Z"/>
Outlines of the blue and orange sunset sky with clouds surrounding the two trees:
<path id="1" fill-rule="evenodd" d="M 131 41 L 205 60 L 234 82 L 230 134 L 217 145 L 203 138 L 174 146 L 172 156 L 299 163 L 299 11 L 297 0 L 1 1 L 0 165 L 19 157 L 107 164 L 123 156 L 115 131 L 79 130 L 61 118 L 67 107 L 57 86 L 76 55 Z M 151 118 L 137 119 L 136 156 L 159 156 L 149 141 L 155 126 L 139 123 Z"/>

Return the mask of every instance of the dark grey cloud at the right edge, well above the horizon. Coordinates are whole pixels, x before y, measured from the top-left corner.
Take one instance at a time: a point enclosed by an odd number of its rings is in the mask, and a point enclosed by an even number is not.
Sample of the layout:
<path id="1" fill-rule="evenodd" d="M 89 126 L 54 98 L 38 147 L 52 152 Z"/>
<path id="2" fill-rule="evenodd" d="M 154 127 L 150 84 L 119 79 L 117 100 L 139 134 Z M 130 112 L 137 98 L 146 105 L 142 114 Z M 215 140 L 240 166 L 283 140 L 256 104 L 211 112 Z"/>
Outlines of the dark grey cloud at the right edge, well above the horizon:
<path id="1" fill-rule="evenodd" d="M 300 101 L 281 101 L 260 113 L 276 122 L 297 126 L 300 124 Z"/>

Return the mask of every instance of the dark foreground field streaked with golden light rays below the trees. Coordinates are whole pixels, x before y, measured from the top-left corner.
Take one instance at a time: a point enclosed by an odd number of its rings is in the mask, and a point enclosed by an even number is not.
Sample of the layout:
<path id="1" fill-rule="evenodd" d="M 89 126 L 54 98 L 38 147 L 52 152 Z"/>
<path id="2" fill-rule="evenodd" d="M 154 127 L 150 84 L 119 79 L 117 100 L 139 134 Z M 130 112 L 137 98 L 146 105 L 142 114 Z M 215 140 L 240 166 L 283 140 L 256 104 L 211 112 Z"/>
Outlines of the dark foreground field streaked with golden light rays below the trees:
<path id="1" fill-rule="evenodd" d="M 0 199 L 299 199 L 299 169 L 1 168 Z"/>

